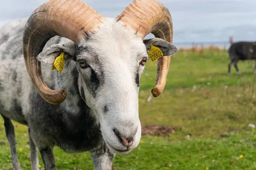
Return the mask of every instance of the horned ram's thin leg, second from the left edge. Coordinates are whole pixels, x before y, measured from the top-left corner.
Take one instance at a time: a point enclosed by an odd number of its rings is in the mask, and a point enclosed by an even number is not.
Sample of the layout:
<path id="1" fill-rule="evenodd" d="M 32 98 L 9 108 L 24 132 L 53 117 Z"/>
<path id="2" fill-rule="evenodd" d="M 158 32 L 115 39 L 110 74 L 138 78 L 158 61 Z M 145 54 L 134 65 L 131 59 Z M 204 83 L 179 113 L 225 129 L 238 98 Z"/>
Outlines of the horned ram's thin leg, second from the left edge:
<path id="1" fill-rule="evenodd" d="M 35 142 L 31 138 L 29 129 L 29 144 L 30 144 L 30 154 L 31 154 L 31 170 L 39 170 L 39 160 L 38 160 L 38 148 L 35 146 Z"/>

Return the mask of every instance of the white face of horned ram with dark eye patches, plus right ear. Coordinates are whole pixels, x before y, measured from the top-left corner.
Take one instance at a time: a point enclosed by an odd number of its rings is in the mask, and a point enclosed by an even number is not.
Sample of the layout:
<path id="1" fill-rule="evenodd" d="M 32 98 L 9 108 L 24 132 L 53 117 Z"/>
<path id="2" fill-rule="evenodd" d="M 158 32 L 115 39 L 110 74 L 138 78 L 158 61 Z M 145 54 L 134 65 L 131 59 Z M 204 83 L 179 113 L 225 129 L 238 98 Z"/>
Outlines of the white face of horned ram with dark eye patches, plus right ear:
<path id="1" fill-rule="evenodd" d="M 128 153 L 140 142 L 138 92 L 151 43 L 163 51 L 177 51 L 161 39 L 143 42 L 113 19 L 76 47 L 81 98 L 99 120 L 103 139 L 113 153 Z"/>

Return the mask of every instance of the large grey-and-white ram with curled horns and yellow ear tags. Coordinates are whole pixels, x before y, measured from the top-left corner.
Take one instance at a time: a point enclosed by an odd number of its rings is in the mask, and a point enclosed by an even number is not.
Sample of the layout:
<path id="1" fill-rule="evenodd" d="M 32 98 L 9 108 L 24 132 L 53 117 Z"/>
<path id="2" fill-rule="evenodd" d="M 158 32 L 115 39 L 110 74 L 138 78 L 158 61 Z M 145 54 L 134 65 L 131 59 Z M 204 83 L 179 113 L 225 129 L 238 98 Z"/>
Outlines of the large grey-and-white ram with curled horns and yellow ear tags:
<path id="1" fill-rule="evenodd" d="M 149 33 L 156 38 L 144 40 Z M 50 0 L 28 19 L 3 26 L 0 113 L 14 169 L 21 167 L 11 120 L 28 126 L 33 170 L 38 150 L 45 169 L 56 170 L 54 146 L 89 151 L 96 170 L 111 170 L 114 155 L 140 141 L 138 92 L 147 51 L 163 53 L 151 91 L 157 97 L 178 51 L 172 35 L 169 10 L 155 0 L 135 0 L 116 18 L 80 0 Z M 55 61 L 64 62 L 61 73 Z"/>

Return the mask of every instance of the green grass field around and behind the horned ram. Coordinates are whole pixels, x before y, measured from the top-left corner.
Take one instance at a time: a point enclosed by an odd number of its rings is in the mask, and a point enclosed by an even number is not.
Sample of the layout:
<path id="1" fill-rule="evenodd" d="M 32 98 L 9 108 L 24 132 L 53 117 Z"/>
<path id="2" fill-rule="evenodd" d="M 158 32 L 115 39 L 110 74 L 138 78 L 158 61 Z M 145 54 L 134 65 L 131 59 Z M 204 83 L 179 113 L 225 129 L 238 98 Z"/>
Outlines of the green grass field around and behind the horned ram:
<path id="1" fill-rule="evenodd" d="M 226 51 L 179 51 L 171 59 L 165 91 L 148 102 L 157 66 L 148 60 L 141 78 L 140 120 L 144 126 L 175 127 L 176 133 L 143 136 L 135 150 L 115 157 L 113 170 L 255 170 L 256 130 L 248 128 L 256 125 L 254 62 L 239 62 L 240 76 L 234 68 L 227 75 L 228 62 Z M 20 164 L 29 170 L 27 127 L 14 124 Z M 93 169 L 89 153 L 67 154 L 58 147 L 54 152 L 59 170 Z M 2 118 L 0 164 L 12 169 Z M 43 168 L 41 159 L 40 164 Z"/>

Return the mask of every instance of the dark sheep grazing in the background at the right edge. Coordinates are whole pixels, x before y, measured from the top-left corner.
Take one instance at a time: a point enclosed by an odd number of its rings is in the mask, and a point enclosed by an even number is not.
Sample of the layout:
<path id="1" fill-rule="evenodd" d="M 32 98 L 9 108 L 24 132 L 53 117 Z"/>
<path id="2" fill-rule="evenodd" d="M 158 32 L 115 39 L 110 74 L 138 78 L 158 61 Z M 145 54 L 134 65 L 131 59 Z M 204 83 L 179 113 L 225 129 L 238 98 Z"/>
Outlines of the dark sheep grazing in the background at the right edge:
<path id="1" fill-rule="evenodd" d="M 234 42 L 228 50 L 230 63 L 228 64 L 228 74 L 231 74 L 231 65 L 236 68 L 237 74 L 240 74 L 237 63 L 239 60 L 256 60 L 256 42 Z M 256 74 L 256 61 L 253 74 Z"/>

